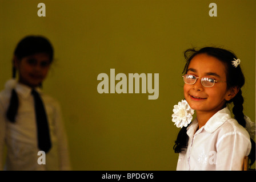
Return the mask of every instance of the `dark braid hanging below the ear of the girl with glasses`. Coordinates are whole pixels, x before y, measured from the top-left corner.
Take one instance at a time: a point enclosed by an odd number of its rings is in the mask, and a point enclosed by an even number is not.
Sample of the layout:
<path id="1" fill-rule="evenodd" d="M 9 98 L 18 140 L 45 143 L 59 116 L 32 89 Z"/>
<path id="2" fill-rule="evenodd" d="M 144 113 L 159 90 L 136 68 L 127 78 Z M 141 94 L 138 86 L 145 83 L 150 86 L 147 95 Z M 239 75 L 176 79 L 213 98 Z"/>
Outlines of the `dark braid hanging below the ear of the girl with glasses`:
<path id="1" fill-rule="evenodd" d="M 243 96 L 241 89 L 239 89 L 239 92 L 233 98 L 233 104 L 233 114 L 235 116 L 235 119 L 240 125 L 245 127 L 245 115 L 243 114 Z"/>

